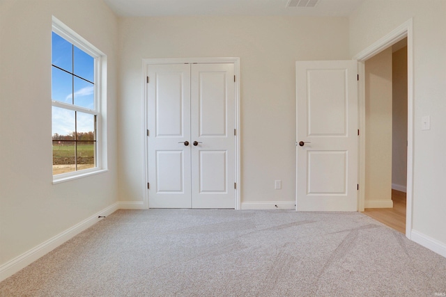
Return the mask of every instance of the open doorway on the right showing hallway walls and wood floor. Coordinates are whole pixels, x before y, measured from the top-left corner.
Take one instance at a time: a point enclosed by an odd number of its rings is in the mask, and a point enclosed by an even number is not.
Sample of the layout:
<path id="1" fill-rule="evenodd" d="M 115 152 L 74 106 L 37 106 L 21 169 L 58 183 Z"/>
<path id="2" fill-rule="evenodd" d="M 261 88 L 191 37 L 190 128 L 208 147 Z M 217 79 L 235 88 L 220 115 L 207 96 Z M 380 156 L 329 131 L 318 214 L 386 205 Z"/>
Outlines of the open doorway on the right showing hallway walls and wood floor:
<path id="1" fill-rule="evenodd" d="M 364 214 L 404 233 L 407 177 L 407 38 L 365 62 Z"/>

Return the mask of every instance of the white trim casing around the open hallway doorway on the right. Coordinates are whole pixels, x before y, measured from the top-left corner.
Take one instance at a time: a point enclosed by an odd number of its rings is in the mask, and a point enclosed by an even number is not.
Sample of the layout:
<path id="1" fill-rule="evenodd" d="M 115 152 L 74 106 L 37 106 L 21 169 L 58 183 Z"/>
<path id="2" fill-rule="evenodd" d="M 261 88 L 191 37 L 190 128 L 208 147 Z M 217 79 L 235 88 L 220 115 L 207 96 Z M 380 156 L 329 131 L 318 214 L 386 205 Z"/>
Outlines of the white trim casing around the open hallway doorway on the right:
<path id="1" fill-rule="evenodd" d="M 359 54 L 355 55 L 353 59 L 358 61 L 358 71 L 360 74 L 360 84 L 358 85 L 358 96 L 360 106 L 360 185 L 365 184 L 365 92 L 364 83 L 361 83 L 361 78 L 364 79 L 364 62 L 372 56 L 378 54 L 380 51 L 387 49 L 396 42 L 399 42 L 403 38 L 407 37 L 407 62 L 408 62 L 408 147 L 407 147 L 407 191 L 406 191 L 406 237 L 410 239 L 412 233 L 412 217 L 413 217 L 413 145 L 414 145 L 414 129 L 413 129 L 413 19 L 408 19 L 392 32 L 385 35 L 380 40 L 374 42 L 373 45 L 367 47 Z M 363 172 L 361 172 L 363 171 Z M 360 186 L 360 197 L 358 201 L 358 210 L 362 211 L 362 205 L 365 201 L 364 186 Z"/>

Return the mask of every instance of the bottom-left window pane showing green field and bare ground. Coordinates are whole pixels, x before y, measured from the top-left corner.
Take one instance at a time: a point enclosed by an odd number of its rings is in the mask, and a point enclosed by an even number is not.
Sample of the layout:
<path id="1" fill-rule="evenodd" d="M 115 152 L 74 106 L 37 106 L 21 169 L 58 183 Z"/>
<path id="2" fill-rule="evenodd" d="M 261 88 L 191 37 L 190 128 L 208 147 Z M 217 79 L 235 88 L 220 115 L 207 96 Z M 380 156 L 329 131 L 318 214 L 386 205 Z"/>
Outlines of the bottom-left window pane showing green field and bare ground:
<path id="1" fill-rule="evenodd" d="M 53 175 L 76 170 L 75 142 L 53 141 Z"/>

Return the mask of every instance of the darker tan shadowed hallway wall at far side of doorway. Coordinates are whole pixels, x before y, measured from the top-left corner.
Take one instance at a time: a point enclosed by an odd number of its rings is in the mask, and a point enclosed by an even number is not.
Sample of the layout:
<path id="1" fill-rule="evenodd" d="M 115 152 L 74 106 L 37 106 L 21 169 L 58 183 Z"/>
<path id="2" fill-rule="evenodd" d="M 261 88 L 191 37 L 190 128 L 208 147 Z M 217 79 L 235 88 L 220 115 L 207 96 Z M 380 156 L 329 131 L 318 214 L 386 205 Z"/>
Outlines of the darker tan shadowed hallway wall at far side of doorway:
<path id="1" fill-rule="evenodd" d="M 392 54 L 392 186 L 407 182 L 407 47 Z"/>

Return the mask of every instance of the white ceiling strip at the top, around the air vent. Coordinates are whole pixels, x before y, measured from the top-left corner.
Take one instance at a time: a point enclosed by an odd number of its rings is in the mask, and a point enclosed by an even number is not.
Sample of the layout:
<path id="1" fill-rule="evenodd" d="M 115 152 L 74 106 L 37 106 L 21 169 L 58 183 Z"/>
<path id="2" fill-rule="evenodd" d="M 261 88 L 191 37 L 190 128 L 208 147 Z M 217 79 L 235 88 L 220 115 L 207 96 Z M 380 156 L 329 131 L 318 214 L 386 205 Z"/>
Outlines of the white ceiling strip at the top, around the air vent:
<path id="1" fill-rule="evenodd" d="M 346 17 L 367 0 L 318 0 L 315 7 L 287 7 L 307 0 L 104 0 L 122 17 L 178 15 L 306 15 Z M 368 0 L 370 1 L 370 0 Z"/>

